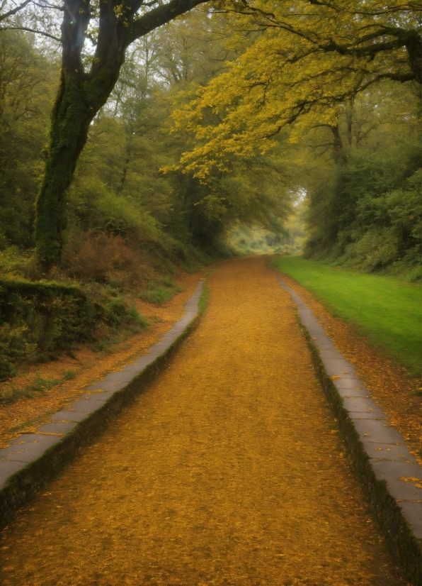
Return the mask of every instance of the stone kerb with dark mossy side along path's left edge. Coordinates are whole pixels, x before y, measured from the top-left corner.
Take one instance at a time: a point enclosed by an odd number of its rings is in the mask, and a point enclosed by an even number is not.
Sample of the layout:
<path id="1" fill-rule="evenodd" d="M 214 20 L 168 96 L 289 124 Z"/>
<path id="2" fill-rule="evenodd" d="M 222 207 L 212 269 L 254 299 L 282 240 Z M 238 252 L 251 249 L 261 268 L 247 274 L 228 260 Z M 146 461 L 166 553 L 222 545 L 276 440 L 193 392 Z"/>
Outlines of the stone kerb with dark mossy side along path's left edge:
<path id="1" fill-rule="evenodd" d="M 149 354 L 89 385 L 86 394 L 57 411 L 36 433 L 24 433 L 0 450 L 0 526 L 161 372 L 198 322 L 203 283 L 201 279 L 185 304 L 183 317 L 149 348 Z"/>

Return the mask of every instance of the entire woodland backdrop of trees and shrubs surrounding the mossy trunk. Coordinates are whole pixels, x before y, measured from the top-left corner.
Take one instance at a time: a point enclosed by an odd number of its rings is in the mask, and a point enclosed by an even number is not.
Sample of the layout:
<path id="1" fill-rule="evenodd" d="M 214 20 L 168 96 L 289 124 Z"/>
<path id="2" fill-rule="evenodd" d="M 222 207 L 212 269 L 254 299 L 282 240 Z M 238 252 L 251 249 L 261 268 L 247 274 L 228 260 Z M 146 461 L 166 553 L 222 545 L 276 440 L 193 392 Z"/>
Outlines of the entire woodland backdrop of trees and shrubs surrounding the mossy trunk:
<path id="1" fill-rule="evenodd" d="M 229 255 L 303 252 L 420 280 L 417 14 L 409 3 L 204 4 L 135 40 L 89 125 L 48 273 L 33 233 L 61 45 L 29 32 L 42 27 L 28 15 L 4 18 L 0 376 L 144 327 L 131 295 L 162 302 L 178 267 Z M 334 50 L 333 28 L 355 45 Z"/>

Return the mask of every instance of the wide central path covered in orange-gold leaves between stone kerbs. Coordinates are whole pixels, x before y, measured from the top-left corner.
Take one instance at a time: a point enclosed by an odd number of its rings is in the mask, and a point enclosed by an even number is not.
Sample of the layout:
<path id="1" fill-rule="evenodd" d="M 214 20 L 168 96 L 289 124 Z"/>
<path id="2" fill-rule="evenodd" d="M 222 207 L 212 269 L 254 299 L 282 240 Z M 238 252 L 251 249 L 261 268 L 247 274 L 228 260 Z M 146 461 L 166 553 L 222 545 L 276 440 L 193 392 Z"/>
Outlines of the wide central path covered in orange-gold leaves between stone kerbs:
<path id="1" fill-rule="evenodd" d="M 4 585 L 400 585 L 262 258 L 212 273 L 154 386 L 4 532 Z"/>

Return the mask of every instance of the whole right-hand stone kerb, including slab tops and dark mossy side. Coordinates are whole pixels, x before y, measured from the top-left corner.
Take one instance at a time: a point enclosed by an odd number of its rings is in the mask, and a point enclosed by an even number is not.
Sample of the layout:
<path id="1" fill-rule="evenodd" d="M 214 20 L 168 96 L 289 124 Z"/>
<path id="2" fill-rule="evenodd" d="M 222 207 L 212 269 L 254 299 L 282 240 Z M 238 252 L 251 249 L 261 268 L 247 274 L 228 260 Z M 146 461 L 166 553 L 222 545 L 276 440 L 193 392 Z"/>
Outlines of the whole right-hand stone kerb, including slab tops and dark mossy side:
<path id="1" fill-rule="evenodd" d="M 282 279 L 279 282 L 297 305 L 319 380 L 338 419 L 372 512 L 406 578 L 419 586 L 422 468 L 311 309 Z"/>

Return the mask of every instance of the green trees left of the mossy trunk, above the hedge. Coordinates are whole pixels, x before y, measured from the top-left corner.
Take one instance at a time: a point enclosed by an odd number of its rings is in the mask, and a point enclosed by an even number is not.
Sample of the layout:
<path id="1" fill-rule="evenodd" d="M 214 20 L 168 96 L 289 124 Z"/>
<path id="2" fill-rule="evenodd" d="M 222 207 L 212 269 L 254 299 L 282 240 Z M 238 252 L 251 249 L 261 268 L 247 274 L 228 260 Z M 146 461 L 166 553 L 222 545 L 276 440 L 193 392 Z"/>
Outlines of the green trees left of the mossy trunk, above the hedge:
<path id="1" fill-rule="evenodd" d="M 28 248 L 58 68 L 18 31 L 1 31 L 0 56 L 0 249 Z"/>

